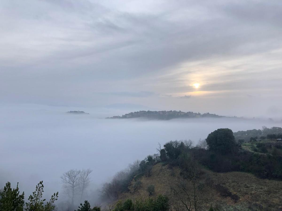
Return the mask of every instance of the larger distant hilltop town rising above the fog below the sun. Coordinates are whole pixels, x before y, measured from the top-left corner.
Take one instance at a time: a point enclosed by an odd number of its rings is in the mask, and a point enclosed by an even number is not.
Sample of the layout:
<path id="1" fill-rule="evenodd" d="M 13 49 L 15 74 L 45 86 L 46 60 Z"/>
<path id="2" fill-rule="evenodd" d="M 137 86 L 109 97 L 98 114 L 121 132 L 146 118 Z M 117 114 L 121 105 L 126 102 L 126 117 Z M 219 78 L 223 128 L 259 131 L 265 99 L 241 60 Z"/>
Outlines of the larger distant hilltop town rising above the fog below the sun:
<path id="1" fill-rule="evenodd" d="M 219 116 L 216 114 L 210 114 L 210 113 L 194 113 L 192 111 L 189 112 L 183 112 L 183 111 L 135 111 L 128 114 L 124 114 L 122 116 L 113 116 L 113 117 L 107 117 L 111 119 L 126 119 L 126 118 L 138 118 L 138 117 L 144 117 L 144 118 L 150 118 L 150 119 L 161 119 L 161 120 L 169 120 L 174 118 L 201 118 L 201 117 L 213 117 L 213 118 L 220 118 L 224 116 Z"/>

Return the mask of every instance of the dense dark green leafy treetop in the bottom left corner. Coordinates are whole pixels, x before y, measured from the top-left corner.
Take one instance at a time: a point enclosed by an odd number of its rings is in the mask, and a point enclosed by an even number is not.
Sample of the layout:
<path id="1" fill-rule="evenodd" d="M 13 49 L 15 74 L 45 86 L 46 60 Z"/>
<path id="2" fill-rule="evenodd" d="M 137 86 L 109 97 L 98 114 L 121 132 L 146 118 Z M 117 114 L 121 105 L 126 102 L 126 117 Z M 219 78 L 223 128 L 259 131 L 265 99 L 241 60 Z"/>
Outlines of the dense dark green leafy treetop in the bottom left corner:
<path id="1" fill-rule="evenodd" d="M 11 188 L 11 183 L 7 182 L 3 191 L 0 193 L 0 210 L 8 211 L 22 211 L 25 204 L 25 193 L 19 195 L 19 183 L 17 183 L 16 189 Z"/>

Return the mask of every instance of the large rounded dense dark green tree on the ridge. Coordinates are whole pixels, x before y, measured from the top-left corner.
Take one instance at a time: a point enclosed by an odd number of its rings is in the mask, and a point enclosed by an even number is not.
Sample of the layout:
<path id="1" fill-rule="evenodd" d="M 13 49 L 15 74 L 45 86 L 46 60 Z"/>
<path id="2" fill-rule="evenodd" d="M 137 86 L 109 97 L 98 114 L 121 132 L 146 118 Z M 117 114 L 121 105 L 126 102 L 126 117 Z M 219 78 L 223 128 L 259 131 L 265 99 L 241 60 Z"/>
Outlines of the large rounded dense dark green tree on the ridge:
<path id="1" fill-rule="evenodd" d="M 206 142 L 210 150 L 221 154 L 234 152 L 237 148 L 233 132 L 228 128 L 221 128 L 213 131 L 206 138 Z"/>

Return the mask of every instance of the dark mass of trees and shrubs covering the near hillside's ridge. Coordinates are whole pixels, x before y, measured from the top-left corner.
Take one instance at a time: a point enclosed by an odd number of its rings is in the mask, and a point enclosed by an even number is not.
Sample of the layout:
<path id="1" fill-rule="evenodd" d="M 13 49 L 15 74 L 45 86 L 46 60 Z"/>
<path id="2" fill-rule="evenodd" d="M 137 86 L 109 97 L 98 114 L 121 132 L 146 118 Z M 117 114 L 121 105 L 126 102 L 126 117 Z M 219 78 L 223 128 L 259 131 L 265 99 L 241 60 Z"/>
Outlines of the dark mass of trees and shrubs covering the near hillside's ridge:
<path id="1" fill-rule="evenodd" d="M 277 128 L 274 129 L 277 130 Z M 268 130 L 267 128 L 264 129 L 264 131 Z M 251 130 L 248 133 L 262 135 L 263 131 Z M 147 156 L 142 161 L 135 161 L 132 165 L 129 165 L 127 170 L 116 174 L 110 183 L 105 183 L 102 188 L 102 196 L 117 199 L 120 193 L 129 191 L 128 186 L 132 180 L 134 181 L 133 189 L 135 191 L 140 187 L 140 177 L 151 176 L 152 167 L 158 162 L 162 162 L 164 165 L 168 164 L 169 167 L 180 167 L 183 177 L 191 171 L 191 165 L 188 165 L 188 163 L 193 159 L 195 163 L 208 167 L 215 172 L 242 171 L 253 173 L 260 178 L 282 179 L 282 157 L 279 156 L 279 143 L 270 145 L 255 142 L 256 147 L 253 145 L 258 152 L 269 151 L 272 152 L 271 154 L 244 151 L 241 149 L 242 143 L 243 140 L 236 142 L 232 130 L 227 128 L 217 129 L 210 133 L 205 141 L 201 141 L 201 146 L 193 147 L 191 140 L 167 142 L 164 144 L 164 149 L 161 147 L 157 149 L 158 154 Z M 201 176 L 201 171 L 198 171 L 197 175 L 199 176 L 195 178 L 201 180 L 201 182 L 205 181 L 205 178 Z M 153 190 L 152 187 L 153 184 L 150 187 L 151 190 Z M 218 192 L 226 197 L 231 197 L 234 201 L 239 199 L 220 185 L 217 186 L 217 189 Z M 149 187 L 147 187 L 149 195 L 153 193 L 151 190 L 149 191 Z"/>

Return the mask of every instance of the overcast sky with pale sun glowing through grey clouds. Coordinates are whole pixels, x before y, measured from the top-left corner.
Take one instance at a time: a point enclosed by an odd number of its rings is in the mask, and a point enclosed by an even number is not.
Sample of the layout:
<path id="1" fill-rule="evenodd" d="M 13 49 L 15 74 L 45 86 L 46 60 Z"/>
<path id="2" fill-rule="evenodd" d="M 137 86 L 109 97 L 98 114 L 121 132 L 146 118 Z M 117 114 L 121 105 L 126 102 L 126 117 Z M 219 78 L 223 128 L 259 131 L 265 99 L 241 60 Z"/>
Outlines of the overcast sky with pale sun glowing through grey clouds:
<path id="1" fill-rule="evenodd" d="M 1 0 L 0 102 L 277 116 L 281 11 L 281 0 Z"/>

